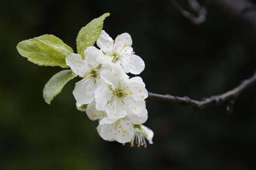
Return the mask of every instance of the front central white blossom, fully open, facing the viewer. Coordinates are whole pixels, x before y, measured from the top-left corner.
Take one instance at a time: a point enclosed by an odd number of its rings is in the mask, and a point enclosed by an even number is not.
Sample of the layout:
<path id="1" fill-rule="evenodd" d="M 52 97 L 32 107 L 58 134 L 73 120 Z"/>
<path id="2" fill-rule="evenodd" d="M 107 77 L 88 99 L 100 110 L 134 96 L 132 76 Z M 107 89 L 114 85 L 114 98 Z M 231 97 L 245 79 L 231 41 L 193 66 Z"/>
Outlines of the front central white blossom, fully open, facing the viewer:
<path id="1" fill-rule="evenodd" d="M 148 91 L 140 77 L 128 79 L 117 67 L 102 71 L 100 77 L 105 86 L 95 91 L 97 110 L 105 110 L 111 119 L 123 118 L 128 112 L 139 114 L 144 111 Z"/>

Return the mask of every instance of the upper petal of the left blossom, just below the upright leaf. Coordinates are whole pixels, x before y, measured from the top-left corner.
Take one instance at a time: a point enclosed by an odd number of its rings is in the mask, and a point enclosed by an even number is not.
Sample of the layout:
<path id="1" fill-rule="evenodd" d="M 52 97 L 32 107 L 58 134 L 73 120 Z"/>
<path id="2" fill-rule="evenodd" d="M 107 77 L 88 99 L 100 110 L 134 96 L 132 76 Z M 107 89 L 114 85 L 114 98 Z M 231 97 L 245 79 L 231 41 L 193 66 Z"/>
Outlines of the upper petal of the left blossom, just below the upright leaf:
<path id="1" fill-rule="evenodd" d="M 99 64 L 102 64 L 102 56 L 105 57 L 104 54 L 102 54 L 102 51 L 97 49 L 94 46 L 87 47 L 84 51 L 85 55 L 85 62 L 90 64 L 93 68 L 98 67 Z"/>

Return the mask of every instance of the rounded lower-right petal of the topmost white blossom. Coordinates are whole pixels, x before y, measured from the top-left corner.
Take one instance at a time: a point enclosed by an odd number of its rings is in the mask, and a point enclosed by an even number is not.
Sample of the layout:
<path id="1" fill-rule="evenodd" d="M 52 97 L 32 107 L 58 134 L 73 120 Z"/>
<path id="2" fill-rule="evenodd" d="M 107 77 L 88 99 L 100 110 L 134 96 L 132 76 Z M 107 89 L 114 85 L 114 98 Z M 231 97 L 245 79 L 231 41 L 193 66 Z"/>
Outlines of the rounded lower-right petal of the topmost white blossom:
<path id="1" fill-rule="evenodd" d="M 122 61 L 126 73 L 140 74 L 145 68 L 143 59 L 135 54 L 123 57 Z"/>

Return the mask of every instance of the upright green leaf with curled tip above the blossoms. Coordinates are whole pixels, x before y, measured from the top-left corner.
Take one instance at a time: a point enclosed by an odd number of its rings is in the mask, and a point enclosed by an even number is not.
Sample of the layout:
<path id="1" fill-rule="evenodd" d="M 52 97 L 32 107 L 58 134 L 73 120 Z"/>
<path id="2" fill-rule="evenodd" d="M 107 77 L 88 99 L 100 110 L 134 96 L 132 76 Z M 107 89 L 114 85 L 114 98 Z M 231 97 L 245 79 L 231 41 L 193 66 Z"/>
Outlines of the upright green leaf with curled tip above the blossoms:
<path id="1" fill-rule="evenodd" d="M 109 15 L 109 13 L 105 13 L 99 18 L 95 18 L 79 31 L 76 38 L 76 48 L 77 53 L 82 56 L 82 59 L 85 58 L 84 50 L 86 50 L 86 48 L 89 46 L 93 46 L 96 40 L 99 39 L 103 28 L 103 21 Z"/>

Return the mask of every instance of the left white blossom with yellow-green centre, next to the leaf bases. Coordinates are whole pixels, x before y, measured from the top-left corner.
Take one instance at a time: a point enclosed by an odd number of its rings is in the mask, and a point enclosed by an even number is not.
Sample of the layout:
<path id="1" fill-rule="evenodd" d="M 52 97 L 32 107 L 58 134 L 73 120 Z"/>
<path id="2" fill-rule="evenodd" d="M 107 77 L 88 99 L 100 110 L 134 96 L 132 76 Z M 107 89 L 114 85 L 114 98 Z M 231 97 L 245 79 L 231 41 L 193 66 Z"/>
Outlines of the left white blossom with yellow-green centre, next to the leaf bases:
<path id="1" fill-rule="evenodd" d="M 102 86 L 100 72 L 109 69 L 102 67 L 106 57 L 101 50 L 90 46 L 84 51 L 84 54 L 86 59 L 82 59 L 79 54 L 70 54 L 66 57 L 66 64 L 70 66 L 74 75 L 83 78 L 76 83 L 73 91 L 76 101 L 88 104 L 93 101 L 96 88 Z"/>

